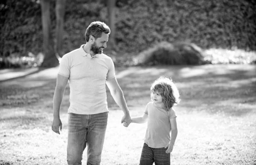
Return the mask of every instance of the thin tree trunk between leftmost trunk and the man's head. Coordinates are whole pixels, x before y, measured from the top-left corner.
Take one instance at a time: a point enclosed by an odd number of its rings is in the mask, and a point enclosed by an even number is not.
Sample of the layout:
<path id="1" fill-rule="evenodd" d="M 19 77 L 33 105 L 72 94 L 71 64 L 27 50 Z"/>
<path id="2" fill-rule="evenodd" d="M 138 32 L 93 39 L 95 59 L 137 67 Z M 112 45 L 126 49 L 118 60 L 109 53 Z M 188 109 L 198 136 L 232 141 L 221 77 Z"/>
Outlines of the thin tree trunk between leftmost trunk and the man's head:
<path id="1" fill-rule="evenodd" d="M 56 45 L 55 53 L 57 58 L 63 56 L 62 52 L 62 41 L 63 41 L 63 27 L 64 27 L 64 15 L 65 15 L 65 4 L 66 0 L 56 0 Z"/>

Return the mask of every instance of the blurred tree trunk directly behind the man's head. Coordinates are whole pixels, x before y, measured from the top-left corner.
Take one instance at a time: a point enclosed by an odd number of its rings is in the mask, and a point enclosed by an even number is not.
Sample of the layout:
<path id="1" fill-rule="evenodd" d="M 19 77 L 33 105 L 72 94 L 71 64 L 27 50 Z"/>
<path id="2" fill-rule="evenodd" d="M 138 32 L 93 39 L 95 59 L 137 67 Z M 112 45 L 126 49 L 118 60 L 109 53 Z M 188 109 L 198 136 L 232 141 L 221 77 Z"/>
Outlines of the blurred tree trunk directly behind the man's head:
<path id="1" fill-rule="evenodd" d="M 111 34 L 109 37 L 110 47 L 115 49 L 116 47 L 116 26 L 115 26 L 115 14 L 116 14 L 116 0 L 108 0 L 108 24 L 111 30 Z"/>

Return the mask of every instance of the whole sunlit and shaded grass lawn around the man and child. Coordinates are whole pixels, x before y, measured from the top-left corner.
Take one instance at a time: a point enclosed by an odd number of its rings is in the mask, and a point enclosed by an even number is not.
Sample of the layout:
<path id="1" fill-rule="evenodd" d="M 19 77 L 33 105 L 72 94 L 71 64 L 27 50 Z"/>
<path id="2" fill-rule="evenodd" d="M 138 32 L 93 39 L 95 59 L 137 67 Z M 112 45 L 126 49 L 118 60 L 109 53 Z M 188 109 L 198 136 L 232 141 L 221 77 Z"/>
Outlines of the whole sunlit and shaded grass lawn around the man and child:
<path id="1" fill-rule="evenodd" d="M 63 130 L 51 130 L 57 71 L 0 83 L 0 165 L 66 164 L 68 85 Z M 256 165 L 256 65 L 116 68 L 131 116 L 143 115 L 150 85 L 160 75 L 172 77 L 181 96 L 172 165 Z M 107 92 L 102 165 L 138 165 L 146 124 L 123 127 L 122 110 Z M 84 151 L 84 165 L 86 157 Z"/>

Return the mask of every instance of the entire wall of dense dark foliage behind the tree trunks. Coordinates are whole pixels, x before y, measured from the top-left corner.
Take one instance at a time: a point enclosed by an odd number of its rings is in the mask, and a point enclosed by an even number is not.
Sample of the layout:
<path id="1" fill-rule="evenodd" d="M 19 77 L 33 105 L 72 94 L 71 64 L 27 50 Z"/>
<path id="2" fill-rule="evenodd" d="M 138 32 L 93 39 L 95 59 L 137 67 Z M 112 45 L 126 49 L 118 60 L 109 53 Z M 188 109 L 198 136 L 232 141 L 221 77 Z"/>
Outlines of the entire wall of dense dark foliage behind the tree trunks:
<path id="1" fill-rule="evenodd" d="M 51 7 L 54 36 L 55 0 Z M 116 36 L 110 37 L 117 52 L 137 55 L 162 41 L 256 50 L 254 0 L 117 0 L 116 8 Z M 0 56 L 42 52 L 39 0 L 4 0 L 0 12 Z M 63 52 L 85 43 L 85 29 L 94 20 L 108 23 L 105 0 L 67 0 Z"/>

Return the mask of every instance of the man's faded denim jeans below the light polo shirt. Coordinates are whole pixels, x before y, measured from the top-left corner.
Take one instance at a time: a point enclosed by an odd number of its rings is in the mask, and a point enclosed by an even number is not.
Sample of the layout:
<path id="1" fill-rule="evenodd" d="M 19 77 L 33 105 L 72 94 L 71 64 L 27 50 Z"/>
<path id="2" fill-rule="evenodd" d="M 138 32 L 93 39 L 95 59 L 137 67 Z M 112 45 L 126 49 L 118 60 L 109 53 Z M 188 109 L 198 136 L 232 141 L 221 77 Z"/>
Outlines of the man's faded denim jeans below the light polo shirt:
<path id="1" fill-rule="evenodd" d="M 87 165 L 100 165 L 108 122 L 108 112 L 68 115 L 67 164 L 81 165 L 87 145 Z"/>

